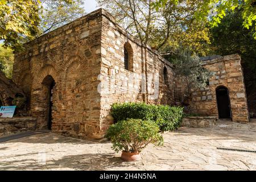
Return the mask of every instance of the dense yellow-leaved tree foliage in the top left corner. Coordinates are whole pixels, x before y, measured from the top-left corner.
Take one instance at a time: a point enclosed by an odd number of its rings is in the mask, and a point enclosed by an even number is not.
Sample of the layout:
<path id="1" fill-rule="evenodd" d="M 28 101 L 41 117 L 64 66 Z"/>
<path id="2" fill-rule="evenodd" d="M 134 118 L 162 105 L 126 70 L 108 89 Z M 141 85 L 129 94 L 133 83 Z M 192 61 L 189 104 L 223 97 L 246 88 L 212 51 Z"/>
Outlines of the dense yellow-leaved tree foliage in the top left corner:
<path id="1" fill-rule="evenodd" d="M 72 0 L 58 0 L 72 3 Z M 34 39 L 39 31 L 39 0 L 1 0 L 0 1 L 0 40 L 5 47 L 20 48 L 22 40 Z"/>

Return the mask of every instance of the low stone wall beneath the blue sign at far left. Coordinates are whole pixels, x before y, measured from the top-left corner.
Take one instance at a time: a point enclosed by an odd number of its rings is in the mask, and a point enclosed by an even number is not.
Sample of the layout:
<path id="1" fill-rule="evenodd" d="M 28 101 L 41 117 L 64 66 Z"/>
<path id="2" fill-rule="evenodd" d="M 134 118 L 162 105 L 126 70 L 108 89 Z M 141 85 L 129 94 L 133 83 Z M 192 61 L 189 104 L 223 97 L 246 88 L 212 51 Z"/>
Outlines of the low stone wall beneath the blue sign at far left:
<path id="1" fill-rule="evenodd" d="M 35 130 L 36 118 L 31 117 L 15 117 L 0 118 L 0 137 L 20 133 L 22 131 Z"/>

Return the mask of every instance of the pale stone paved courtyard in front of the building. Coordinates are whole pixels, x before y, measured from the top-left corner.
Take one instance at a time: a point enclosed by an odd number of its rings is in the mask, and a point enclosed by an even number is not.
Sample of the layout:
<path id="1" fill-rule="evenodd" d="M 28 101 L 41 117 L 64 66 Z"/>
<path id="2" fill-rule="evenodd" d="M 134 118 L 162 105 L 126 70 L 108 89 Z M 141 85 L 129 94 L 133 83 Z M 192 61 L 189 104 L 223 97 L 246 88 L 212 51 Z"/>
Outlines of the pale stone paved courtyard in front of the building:
<path id="1" fill-rule="evenodd" d="M 148 146 L 139 162 L 123 162 L 111 143 L 53 133 L 0 143 L 0 170 L 255 170 L 256 122 L 218 122 L 212 129 L 181 127 L 164 134 L 164 146 Z M 44 160 L 46 159 L 46 160 Z"/>

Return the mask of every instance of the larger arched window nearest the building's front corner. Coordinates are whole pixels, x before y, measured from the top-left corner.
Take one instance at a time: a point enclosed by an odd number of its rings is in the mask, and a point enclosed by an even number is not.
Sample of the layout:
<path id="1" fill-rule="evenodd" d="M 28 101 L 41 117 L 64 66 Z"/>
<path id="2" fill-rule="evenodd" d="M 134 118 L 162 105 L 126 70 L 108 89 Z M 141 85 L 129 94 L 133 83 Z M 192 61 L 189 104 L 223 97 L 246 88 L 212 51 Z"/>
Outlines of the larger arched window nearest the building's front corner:
<path id="1" fill-rule="evenodd" d="M 129 42 L 125 43 L 124 49 L 124 67 L 126 70 L 133 72 L 133 47 Z"/>

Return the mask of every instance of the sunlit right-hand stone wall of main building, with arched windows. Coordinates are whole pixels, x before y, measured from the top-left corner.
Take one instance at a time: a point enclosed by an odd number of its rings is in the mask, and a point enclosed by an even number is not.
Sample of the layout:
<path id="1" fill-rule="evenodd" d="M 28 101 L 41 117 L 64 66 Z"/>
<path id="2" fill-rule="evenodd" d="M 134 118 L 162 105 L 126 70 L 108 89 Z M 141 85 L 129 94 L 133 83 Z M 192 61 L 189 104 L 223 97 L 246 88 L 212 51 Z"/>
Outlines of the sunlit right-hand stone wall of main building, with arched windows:
<path id="1" fill-rule="evenodd" d="M 109 114 L 115 102 L 146 102 L 174 104 L 174 70 L 150 47 L 115 23 L 104 11 L 102 17 L 101 65 L 101 126 L 104 132 L 113 122 Z M 129 55 L 129 69 L 125 69 L 124 48 Z M 164 83 L 163 69 L 167 69 Z"/>

